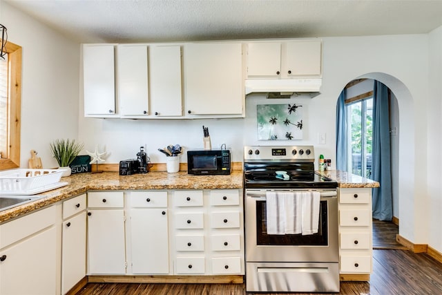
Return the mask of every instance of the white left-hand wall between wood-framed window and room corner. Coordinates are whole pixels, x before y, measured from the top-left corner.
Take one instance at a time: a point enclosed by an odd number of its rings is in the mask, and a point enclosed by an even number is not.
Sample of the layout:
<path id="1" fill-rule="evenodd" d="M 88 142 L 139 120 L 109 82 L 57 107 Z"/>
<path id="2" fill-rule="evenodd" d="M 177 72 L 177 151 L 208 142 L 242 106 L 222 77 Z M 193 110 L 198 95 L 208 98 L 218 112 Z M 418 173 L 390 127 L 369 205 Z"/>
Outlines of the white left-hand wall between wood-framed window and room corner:
<path id="1" fill-rule="evenodd" d="M 57 167 L 49 143 L 78 136 L 79 44 L 1 2 L 8 41 L 22 47 L 21 159 L 35 149 L 44 168 Z"/>

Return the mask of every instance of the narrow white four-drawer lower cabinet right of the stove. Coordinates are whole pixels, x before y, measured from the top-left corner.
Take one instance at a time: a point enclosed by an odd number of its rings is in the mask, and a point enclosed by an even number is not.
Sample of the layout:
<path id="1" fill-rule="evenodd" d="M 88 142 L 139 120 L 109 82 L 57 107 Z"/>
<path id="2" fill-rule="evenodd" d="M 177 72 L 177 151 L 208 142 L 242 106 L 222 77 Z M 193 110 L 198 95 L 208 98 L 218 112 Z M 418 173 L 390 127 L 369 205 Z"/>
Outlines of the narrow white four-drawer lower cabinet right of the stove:
<path id="1" fill-rule="evenodd" d="M 339 189 L 340 274 L 372 272 L 372 189 Z"/>

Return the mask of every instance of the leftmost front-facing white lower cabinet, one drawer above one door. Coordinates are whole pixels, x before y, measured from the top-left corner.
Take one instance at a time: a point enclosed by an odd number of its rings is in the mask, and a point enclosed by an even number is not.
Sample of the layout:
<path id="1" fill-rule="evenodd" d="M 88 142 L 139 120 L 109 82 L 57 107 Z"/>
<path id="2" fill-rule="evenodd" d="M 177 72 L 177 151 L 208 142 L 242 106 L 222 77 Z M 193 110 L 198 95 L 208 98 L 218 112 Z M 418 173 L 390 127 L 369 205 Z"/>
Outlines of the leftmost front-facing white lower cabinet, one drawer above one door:
<path id="1" fill-rule="evenodd" d="M 122 191 L 88 193 L 88 274 L 126 274 Z"/>

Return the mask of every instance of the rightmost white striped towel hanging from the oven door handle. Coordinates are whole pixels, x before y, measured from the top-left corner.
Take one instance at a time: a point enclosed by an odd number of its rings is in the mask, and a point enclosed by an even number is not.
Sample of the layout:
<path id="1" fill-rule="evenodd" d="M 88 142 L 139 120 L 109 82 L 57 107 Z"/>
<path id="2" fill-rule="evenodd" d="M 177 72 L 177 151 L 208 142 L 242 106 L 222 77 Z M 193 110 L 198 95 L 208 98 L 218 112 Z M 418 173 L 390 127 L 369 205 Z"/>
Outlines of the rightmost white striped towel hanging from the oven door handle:
<path id="1" fill-rule="evenodd" d="M 320 193 L 302 193 L 302 235 L 318 232 Z"/>

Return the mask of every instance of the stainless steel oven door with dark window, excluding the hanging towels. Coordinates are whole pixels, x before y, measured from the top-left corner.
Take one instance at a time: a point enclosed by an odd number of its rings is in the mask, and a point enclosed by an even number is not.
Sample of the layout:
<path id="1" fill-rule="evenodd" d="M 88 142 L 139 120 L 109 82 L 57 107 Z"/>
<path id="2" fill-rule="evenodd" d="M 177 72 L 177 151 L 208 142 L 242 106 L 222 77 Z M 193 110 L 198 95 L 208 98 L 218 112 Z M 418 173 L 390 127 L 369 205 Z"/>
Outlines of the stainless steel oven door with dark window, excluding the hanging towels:
<path id="1" fill-rule="evenodd" d="M 265 189 L 246 189 L 245 237 L 247 262 L 332 262 L 339 260 L 336 189 L 320 191 L 318 233 L 269 235 Z M 280 190 L 280 192 L 302 190 Z M 308 190 L 304 190 L 308 191 Z M 278 191 L 273 191 L 278 192 Z"/>

